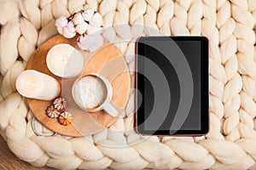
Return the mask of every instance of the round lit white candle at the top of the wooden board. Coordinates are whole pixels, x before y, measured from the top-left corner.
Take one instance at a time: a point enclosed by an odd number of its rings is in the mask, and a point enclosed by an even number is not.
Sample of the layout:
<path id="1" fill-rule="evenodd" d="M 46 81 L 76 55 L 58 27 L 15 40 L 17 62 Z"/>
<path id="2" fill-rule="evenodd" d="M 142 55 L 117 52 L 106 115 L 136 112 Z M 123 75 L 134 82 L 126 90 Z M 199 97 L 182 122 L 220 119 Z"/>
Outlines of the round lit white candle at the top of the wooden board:
<path id="1" fill-rule="evenodd" d="M 49 49 L 46 64 L 58 77 L 76 77 L 84 68 L 84 57 L 76 48 L 61 43 Z"/>

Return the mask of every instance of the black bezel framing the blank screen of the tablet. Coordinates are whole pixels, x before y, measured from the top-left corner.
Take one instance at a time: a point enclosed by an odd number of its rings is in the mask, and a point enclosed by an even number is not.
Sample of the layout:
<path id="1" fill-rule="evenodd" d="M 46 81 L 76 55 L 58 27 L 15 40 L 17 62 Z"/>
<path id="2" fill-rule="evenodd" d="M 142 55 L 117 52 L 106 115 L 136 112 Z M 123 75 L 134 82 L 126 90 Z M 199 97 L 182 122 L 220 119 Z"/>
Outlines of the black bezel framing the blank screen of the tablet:
<path id="1" fill-rule="evenodd" d="M 209 131 L 209 42 L 207 37 L 170 37 L 172 41 L 200 41 L 201 42 L 201 129 L 200 130 L 146 130 L 143 126 L 137 126 L 144 122 L 144 114 L 137 113 L 136 102 L 136 116 L 135 129 L 137 133 L 142 135 L 182 135 L 182 136 L 200 136 L 205 135 Z M 137 80 L 137 55 L 145 56 L 143 43 L 145 41 L 166 41 L 166 37 L 139 37 L 136 42 L 136 74 L 135 86 L 138 89 L 138 81 L 141 84 L 144 81 Z M 202 57 L 205 56 L 205 57 Z M 206 86 L 207 84 L 207 86 Z M 142 86 L 143 87 L 143 86 Z M 143 90 L 138 89 L 144 96 Z M 137 101 L 137 93 L 136 93 Z M 144 104 L 142 103 L 141 106 Z M 143 110 L 144 111 L 144 110 Z"/>

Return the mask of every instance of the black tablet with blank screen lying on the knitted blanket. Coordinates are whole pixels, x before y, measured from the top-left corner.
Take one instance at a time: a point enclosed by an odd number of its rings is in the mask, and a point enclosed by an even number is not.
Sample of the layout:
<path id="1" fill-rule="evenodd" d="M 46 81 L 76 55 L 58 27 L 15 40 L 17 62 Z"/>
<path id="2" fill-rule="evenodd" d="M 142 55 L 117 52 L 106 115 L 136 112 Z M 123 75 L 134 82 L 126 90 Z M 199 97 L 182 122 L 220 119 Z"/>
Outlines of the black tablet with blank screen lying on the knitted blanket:
<path id="1" fill-rule="evenodd" d="M 204 135 L 209 130 L 206 37 L 139 37 L 137 133 Z"/>

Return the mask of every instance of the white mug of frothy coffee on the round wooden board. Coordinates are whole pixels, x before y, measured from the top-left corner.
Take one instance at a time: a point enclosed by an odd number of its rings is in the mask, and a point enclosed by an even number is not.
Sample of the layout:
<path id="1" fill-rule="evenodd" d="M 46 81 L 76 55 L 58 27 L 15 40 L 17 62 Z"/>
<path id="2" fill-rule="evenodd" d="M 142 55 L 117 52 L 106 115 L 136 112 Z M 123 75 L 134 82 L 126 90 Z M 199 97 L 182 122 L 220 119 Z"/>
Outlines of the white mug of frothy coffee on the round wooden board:
<path id="1" fill-rule="evenodd" d="M 106 77 L 100 74 L 88 73 L 79 77 L 72 88 L 75 103 L 88 112 L 107 111 L 111 116 L 119 112 L 111 104 L 113 89 Z"/>

